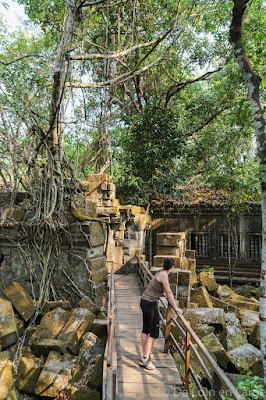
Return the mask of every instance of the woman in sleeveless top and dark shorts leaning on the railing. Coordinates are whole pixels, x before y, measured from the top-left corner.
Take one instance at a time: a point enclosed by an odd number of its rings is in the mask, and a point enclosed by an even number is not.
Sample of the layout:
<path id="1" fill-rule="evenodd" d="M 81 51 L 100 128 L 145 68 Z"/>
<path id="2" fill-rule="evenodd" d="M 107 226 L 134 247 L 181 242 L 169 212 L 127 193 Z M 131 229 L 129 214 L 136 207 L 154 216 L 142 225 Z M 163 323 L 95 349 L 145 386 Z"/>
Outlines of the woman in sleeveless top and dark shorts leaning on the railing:
<path id="1" fill-rule="evenodd" d="M 169 285 L 168 277 L 173 268 L 174 260 L 172 258 L 165 258 L 163 269 L 154 275 L 141 296 L 140 307 L 143 314 L 141 343 L 143 348 L 143 356 L 140 359 L 140 365 L 146 369 L 155 369 L 155 366 L 151 362 L 150 354 L 154 340 L 159 336 L 160 318 L 158 312 L 158 301 L 163 295 L 163 292 L 165 292 L 175 312 L 183 313 L 181 308 L 177 307 L 174 295 Z"/>

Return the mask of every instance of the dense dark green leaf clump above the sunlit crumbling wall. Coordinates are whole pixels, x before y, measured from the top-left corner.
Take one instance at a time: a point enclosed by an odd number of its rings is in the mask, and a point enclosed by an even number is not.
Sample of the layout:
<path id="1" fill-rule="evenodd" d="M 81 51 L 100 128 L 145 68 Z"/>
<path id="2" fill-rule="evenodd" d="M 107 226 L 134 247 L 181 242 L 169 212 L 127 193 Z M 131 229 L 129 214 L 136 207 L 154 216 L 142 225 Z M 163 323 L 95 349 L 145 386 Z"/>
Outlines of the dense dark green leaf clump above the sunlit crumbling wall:
<path id="1" fill-rule="evenodd" d="M 149 202 L 156 192 L 171 193 L 178 179 L 175 160 L 185 144 L 178 121 L 174 111 L 156 105 L 126 119 L 116 166 L 122 194 L 130 193 L 133 201 L 142 197 Z"/>

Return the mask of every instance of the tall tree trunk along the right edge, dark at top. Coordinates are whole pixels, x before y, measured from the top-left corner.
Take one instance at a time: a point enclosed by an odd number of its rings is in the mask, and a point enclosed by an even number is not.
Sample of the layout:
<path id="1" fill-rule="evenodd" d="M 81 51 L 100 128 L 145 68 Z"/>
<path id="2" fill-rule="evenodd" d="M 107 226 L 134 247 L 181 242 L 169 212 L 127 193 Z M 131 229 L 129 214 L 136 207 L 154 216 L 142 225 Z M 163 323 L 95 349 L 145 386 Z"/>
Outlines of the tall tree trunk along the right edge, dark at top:
<path id="1" fill-rule="evenodd" d="M 250 108 L 254 123 L 257 143 L 257 156 L 260 170 L 262 191 L 262 254 L 261 254 L 261 291 L 260 291 L 260 333 L 261 351 L 263 356 L 264 381 L 266 384 L 266 123 L 260 104 L 259 86 L 261 77 L 256 74 L 246 54 L 242 43 L 242 20 L 249 0 L 233 0 L 233 17 L 230 26 L 229 40 L 233 47 L 234 55 L 246 81 Z"/>

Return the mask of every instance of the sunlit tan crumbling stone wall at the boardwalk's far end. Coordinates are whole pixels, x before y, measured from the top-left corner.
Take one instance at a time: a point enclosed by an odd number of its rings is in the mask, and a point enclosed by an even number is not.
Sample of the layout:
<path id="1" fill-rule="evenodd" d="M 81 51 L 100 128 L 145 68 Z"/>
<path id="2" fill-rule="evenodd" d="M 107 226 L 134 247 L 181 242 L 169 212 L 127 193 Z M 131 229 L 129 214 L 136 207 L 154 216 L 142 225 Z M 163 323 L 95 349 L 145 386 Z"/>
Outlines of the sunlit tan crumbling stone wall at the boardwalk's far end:
<path id="1" fill-rule="evenodd" d="M 136 254 L 142 255 L 151 217 L 143 207 L 120 205 L 110 175 L 88 175 L 79 183 L 88 201 L 95 202 L 97 217 L 108 222 L 107 266 L 120 272 L 136 271 Z"/>

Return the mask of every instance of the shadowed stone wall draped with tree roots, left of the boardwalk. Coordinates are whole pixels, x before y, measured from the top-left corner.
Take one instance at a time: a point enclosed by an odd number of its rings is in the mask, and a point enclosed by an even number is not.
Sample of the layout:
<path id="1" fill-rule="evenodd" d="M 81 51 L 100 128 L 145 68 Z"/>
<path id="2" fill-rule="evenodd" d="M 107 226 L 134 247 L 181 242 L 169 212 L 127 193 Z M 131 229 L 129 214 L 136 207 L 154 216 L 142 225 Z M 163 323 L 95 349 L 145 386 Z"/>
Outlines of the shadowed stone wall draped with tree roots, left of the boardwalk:
<path id="1" fill-rule="evenodd" d="M 31 296 L 39 298 L 45 265 L 28 240 L 31 235 L 32 229 L 29 230 L 25 223 L 1 225 L 0 294 L 12 282 L 19 282 Z M 108 277 L 104 255 L 106 224 L 76 222 L 58 235 L 61 245 L 54 249 L 56 255 L 49 266 L 52 271 L 51 298 L 70 300 L 73 305 L 84 295 L 102 301 Z"/>

